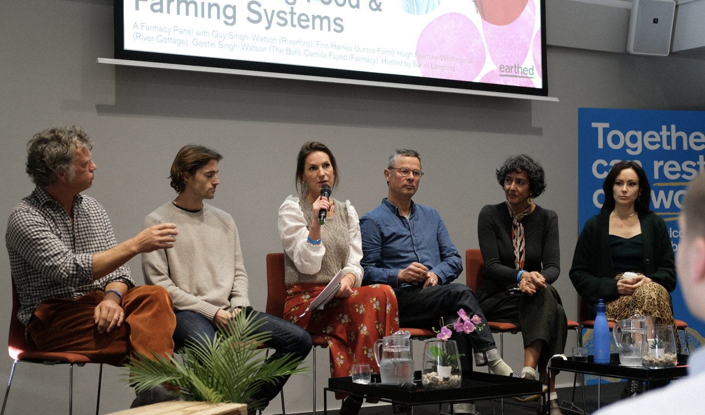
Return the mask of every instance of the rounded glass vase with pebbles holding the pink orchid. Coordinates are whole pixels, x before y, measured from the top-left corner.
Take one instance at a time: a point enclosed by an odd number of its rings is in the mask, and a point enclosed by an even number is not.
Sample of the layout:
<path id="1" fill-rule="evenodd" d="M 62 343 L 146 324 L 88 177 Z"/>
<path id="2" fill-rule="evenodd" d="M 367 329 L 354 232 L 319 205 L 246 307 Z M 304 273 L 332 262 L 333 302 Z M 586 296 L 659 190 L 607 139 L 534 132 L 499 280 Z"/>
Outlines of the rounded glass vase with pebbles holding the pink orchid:
<path id="1" fill-rule="evenodd" d="M 460 387 L 462 368 L 455 340 L 427 339 L 424 342 L 421 379 L 426 389 Z"/>

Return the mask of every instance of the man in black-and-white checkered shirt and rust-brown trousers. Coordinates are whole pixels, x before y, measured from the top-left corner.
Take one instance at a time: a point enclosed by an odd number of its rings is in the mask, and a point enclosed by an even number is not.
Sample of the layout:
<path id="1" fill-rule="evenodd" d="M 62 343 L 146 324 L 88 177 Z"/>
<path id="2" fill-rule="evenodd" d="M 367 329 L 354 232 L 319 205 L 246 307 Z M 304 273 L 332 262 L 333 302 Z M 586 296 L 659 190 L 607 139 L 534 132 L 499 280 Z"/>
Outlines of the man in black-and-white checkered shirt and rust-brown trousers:
<path id="1" fill-rule="evenodd" d="M 5 236 L 20 298 L 17 317 L 40 351 L 115 366 L 135 352 L 170 356 L 171 296 L 161 287 L 135 287 L 125 263 L 171 248 L 176 225 L 159 224 L 118 244 L 103 207 L 80 194 L 97 168 L 92 146 L 75 126 L 43 131 L 27 145 L 27 174 L 37 187 L 13 209 Z M 137 394 L 133 407 L 174 398 L 159 386 Z"/>

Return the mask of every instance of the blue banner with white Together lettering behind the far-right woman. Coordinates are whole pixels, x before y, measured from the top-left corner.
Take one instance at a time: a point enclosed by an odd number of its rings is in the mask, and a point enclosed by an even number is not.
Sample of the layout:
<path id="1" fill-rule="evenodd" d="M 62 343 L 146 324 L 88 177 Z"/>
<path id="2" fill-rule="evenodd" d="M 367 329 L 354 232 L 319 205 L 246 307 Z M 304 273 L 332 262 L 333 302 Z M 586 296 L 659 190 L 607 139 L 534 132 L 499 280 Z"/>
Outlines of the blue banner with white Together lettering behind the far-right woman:
<path id="1" fill-rule="evenodd" d="M 678 253 L 685 189 L 705 170 L 705 112 L 578 109 L 578 231 L 600 212 L 604 179 L 622 160 L 644 168 L 651 185 L 651 210 L 666 221 L 673 251 Z M 705 324 L 687 310 L 680 284 L 671 296 L 675 318 L 705 334 Z"/>

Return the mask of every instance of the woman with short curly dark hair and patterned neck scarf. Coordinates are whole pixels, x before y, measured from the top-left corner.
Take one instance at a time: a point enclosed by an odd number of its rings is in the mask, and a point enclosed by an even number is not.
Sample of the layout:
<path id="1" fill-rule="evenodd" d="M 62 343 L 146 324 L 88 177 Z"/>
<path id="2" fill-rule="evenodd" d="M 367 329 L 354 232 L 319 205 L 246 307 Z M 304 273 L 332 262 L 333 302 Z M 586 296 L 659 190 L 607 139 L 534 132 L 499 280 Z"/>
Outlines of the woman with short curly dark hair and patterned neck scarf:
<path id="1" fill-rule="evenodd" d="M 513 323 L 522 330 L 522 378 L 537 379 L 541 373 L 546 385 L 548 359 L 563 354 L 568 334 L 563 304 L 551 286 L 560 274 L 558 216 L 534 204 L 546 189 L 546 177 L 531 157 L 507 157 L 496 175 L 506 201 L 480 211 L 477 237 L 485 270 L 477 299 L 487 320 Z M 512 291 L 517 294 L 507 294 Z M 551 415 L 561 414 L 555 378 L 552 372 Z M 515 399 L 527 402 L 539 396 Z"/>

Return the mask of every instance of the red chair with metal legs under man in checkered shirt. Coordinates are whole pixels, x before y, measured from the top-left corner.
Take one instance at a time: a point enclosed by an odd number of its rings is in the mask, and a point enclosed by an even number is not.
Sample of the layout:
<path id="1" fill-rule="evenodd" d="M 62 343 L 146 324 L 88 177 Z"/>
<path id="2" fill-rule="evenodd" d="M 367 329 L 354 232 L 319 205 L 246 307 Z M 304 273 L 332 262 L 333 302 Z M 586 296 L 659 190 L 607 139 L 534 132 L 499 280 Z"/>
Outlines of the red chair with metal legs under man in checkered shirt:
<path id="1" fill-rule="evenodd" d="M 98 397 L 95 405 L 95 414 L 98 415 L 98 410 L 100 408 L 100 384 L 103 376 L 103 363 L 94 361 L 92 359 L 83 356 L 82 354 L 75 353 L 61 353 L 61 352 L 44 352 L 37 350 L 34 344 L 27 342 L 25 338 L 25 325 L 23 325 L 17 318 L 17 311 L 20 309 L 20 297 L 17 294 L 17 287 L 15 285 L 15 279 L 12 279 L 12 314 L 10 316 L 10 333 L 8 335 L 7 350 L 10 357 L 14 359 L 15 363 L 12 364 L 12 371 L 10 372 L 10 380 L 7 383 L 7 390 L 5 391 L 5 399 L 2 404 L 2 411 L 0 415 L 5 413 L 5 404 L 7 403 L 7 397 L 10 393 L 10 386 L 12 385 L 12 378 L 15 374 L 15 366 L 20 361 L 28 363 L 42 363 L 47 366 L 54 366 L 56 364 L 68 364 L 68 414 L 71 415 L 73 411 L 73 365 L 82 367 L 86 363 L 98 363 L 100 364 L 100 370 L 98 373 Z"/>

